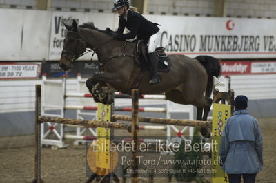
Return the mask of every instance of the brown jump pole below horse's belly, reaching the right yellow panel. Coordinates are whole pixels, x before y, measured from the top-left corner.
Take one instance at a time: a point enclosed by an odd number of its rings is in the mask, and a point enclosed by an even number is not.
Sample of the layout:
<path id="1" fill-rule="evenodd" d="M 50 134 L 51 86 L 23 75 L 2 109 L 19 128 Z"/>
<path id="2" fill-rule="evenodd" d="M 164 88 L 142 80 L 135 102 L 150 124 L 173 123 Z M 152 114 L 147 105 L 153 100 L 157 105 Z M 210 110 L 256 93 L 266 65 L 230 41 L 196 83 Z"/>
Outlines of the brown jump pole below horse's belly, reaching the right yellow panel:
<path id="1" fill-rule="evenodd" d="M 123 121 L 131 121 L 131 116 L 126 115 L 113 115 L 112 120 L 123 120 Z M 139 122 L 148 122 L 162 125 L 178 125 L 178 126 L 188 126 L 188 127 L 211 127 L 212 122 L 210 121 L 201 121 L 201 120 L 178 120 L 178 119 L 166 119 L 166 118 L 148 118 L 148 117 L 139 117 Z"/>

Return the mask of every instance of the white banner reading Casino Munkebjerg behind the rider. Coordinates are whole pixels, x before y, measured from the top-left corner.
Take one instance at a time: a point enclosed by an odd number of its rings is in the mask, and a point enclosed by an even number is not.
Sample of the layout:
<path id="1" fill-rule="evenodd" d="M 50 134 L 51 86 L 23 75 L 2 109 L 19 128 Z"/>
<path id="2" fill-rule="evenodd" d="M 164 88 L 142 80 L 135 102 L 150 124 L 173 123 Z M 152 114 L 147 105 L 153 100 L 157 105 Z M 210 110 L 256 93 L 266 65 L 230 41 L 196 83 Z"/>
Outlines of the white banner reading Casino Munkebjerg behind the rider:
<path id="1" fill-rule="evenodd" d="M 157 16 L 169 54 L 216 58 L 273 58 L 276 22 L 268 19 Z"/>

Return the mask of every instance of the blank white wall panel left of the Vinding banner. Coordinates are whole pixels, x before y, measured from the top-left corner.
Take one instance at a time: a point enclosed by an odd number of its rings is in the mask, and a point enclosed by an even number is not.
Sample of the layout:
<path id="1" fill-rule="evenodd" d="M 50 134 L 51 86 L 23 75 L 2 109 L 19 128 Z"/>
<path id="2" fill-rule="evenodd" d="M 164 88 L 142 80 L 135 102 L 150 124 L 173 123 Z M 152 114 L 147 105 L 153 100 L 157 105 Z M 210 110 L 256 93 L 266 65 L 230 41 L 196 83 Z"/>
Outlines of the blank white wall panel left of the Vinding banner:
<path id="1" fill-rule="evenodd" d="M 51 12 L 0 9 L 1 61 L 48 59 Z"/>

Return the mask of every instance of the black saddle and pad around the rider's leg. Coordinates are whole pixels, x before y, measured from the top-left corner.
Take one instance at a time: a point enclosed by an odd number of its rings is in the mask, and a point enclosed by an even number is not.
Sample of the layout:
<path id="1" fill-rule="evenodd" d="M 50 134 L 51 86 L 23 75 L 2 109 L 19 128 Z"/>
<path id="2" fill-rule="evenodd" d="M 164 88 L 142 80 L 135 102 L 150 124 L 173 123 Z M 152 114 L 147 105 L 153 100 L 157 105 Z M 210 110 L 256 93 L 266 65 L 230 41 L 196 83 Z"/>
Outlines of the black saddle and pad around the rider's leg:
<path id="1" fill-rule="evenodd" d="M 135 61 L 139 67 L 144 71 L 150 71 L 150 65 L 148 62 L 148 46 L 142 40 L 138 40 L 135 46 L 133 55 L 135 56 Z M 164 47 L 157 47 L 155 52 L 158 56 L 158 72 L 169 72 L 170 71 L 170 58 L 164 52 Z"/>

